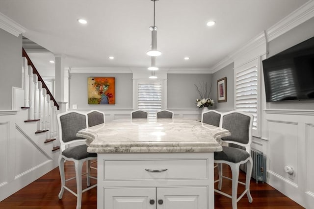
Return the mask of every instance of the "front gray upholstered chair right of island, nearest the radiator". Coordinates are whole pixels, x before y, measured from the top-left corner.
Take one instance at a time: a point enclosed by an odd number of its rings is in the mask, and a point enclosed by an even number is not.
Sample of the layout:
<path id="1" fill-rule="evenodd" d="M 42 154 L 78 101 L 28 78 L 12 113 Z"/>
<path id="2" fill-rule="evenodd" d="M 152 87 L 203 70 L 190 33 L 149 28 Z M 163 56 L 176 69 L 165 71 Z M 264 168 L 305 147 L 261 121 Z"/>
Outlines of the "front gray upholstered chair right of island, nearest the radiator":
<path id="1" fill-rule="evenodd" d="M 215 192 L 232 199 L 232 208 L 237 208 L 237 202 L 245 195 L 252 203 L 253 199 L 250 193 L 250 180 L 252 172 L 252 158 L 250 148 L 252 142 L 252 124 L 253 116 L 240 111 L 230 111 L 221 115 L 219 126 L 230 131 L 231 136 L 222 138 L 222 142 L 233 143 L 242 146 L 244 149 L 235 147 L 222 146 L 221 152 L 214 152 L 214 163 L 218 165 L 218 189 Z M 231 168 L 232 178 L 222 175 L 222 163 L 228 164 Z M 246 179 L 245 183 L 239 182 L 239 166 L 246 163 Z M 222 180 L 232 180 L 232 194 L 229 195 L 221 191 Z M 245 190 L 237 197 L 238 184 L 245 185 Z"/>

